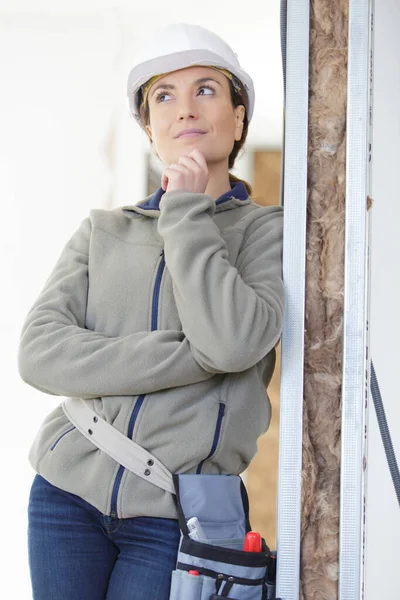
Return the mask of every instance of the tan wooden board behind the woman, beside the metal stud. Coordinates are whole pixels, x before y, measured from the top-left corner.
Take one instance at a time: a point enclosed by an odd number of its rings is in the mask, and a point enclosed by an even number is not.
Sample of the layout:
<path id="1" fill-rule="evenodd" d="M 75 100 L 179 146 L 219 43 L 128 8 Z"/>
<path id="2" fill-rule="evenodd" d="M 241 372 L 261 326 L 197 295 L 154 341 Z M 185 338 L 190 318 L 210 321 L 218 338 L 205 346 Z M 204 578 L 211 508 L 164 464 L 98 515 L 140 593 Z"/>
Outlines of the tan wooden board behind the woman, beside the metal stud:
<path id="1" fill-rule="evenodd" d="M 281 152 L 256 151 L 254 159 L 253 200 L 263 206 L 279 204 Z M 258 452 L 246 471 L 251 526 L 262 534 L 271 549 L 276 548 L 280 356 L 279 343 L 275 371 L 268 386 L 272 405 L 271 424 L 258 439 Z"/>

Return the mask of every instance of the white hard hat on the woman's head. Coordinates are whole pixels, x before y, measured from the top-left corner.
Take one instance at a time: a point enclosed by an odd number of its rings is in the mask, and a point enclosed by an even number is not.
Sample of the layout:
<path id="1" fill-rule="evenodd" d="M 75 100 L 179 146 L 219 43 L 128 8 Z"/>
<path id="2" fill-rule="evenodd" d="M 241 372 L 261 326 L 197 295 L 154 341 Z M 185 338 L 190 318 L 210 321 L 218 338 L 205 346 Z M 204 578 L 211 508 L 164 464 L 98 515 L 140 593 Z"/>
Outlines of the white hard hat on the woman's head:
<path id="1" fill-rule="evenodd" d="M 159 30 L 136 55 L 127 84 L 130 114 L 139 122 L 139 90 L 149 79 L 197 65 L 226 69 L 239 79 L 249 97 L 247 118 L 250 123 L 254 110 L 254 84 L 240 67 L 237 54 L 216 33 L 187 23 L 174 23 Z"/>

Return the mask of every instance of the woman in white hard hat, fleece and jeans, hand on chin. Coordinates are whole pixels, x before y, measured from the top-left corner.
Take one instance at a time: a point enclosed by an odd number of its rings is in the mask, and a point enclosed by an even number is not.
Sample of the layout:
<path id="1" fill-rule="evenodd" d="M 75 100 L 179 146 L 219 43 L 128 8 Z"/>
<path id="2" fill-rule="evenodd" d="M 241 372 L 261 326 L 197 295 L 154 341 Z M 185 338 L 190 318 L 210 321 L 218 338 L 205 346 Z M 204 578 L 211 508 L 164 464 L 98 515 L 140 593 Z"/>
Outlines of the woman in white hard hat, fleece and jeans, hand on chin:
<path id="1" fill-rule="evenodd" d="M 269 424 L 283 313 L 282 208 L 254 204 L 229 173 L 252 81 L 221 38 L 178 24 L 137 58 L 128 97 L 167 165 L 161 187 L 82 221 L 25 319 L 20 375 L 83 399 L 171 472 L 239 474 Z M 173 494 L 82 435 L 61 404 L 29 460 L 34 599 L 167 600 Z"/>

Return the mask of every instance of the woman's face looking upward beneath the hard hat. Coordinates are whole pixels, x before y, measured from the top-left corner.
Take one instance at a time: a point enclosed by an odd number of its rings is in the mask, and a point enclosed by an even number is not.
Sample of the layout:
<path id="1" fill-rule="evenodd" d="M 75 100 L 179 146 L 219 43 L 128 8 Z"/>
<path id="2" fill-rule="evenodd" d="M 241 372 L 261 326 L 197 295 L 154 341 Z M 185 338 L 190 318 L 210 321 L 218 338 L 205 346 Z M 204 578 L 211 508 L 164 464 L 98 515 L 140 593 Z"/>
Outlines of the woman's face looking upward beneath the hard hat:
<path id="1" fill-rule="evenodd" d="M 201 81 L 198 81 L 201 79 Z M 223 73 L 209 67 L 188 67 L 167 73 L 150 87 L 150 124 L 146 131 L 153 149 L 165 164 L 198 148 L 207 164 L 226 162 L 235 140 L 240 140 L 245 107 L 233 107 L 230 83 Z M 203 134 L 178 137 L 183 129 Z"/>

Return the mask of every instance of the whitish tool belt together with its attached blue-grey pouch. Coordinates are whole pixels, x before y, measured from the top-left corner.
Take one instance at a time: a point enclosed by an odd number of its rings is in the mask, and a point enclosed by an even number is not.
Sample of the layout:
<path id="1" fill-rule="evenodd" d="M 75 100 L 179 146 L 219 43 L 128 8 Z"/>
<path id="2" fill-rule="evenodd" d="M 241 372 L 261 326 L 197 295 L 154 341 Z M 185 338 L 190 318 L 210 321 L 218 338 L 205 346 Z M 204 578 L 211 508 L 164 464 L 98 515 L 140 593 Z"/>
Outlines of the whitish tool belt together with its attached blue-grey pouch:
<path id="1" fill-rule="evenodd" d="M 251 531 L 246 488 L 239 475 L 172 474 L 155 456 L 107 423 L 81 398 L 62 408 L 100 450 L 146 481 L 174 494 L 181 539 L 170 600 L 275 598 L 276 554 L 243 550 Z"/>

